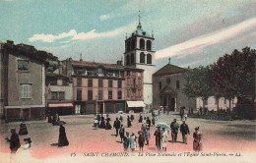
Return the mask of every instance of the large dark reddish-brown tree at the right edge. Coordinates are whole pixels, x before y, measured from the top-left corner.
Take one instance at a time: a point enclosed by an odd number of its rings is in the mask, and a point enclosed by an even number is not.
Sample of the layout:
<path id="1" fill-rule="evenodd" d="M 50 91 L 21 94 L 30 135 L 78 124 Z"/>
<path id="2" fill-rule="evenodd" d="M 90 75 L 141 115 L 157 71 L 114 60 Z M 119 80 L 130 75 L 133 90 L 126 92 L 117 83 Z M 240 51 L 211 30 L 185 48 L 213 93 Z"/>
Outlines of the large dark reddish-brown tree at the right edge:
<path id="1" fill-rule="evenodd" d="M 225 54 L 212 65 L 212 79 L 215 93 L 230 101 L 238 102 L 247 97 L 255 98 L 255 56 L 256 51 L 245 47 Z"/>

